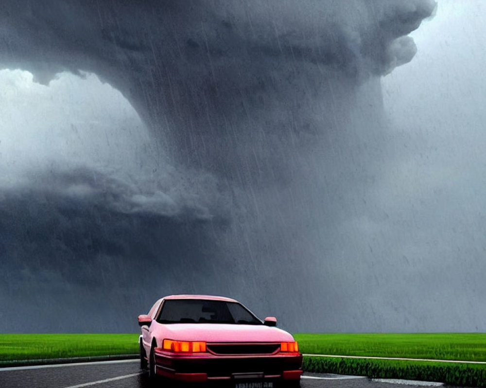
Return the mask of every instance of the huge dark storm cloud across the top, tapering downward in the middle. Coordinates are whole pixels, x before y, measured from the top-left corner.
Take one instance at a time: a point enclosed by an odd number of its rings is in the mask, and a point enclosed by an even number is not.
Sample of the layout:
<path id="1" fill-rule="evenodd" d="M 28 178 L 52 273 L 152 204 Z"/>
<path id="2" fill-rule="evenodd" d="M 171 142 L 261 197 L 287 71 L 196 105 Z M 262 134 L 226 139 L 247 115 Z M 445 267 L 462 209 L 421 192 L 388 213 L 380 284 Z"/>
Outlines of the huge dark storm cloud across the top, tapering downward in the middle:
<path id="1" fill-rule="evenodd" d="M 205 110 L 217 106 L 229 114 L 242 98 L 272 93 L 282 78 L 294 87 L 292 78 L 301 82 L 309 73 L 302 63 L 324 66 L 323 77 L 336 71 L 366 78 L 411 60 L 414 45 L 401 37 L 434 6 L 432 0 L 346 6 L 310 0 L 6 1 L 0 63 L 28 69 L 43 82 L 61 70 L 93 71 L 157 127 L 166 120 L 196 125 L 199 115 L 208 116 L 208 126 L 212 117 Z"/>

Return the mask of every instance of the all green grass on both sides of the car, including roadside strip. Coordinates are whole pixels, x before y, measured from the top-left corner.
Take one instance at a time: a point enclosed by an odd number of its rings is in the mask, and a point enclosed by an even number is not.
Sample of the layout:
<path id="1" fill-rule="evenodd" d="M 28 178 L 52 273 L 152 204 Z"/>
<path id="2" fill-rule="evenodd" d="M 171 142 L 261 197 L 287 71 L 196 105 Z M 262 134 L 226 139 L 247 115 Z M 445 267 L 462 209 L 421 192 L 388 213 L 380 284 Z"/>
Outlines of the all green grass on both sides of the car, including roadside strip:
<path id="1" fill-rule="evenodd" d="M 304 354 L 486 361 L 486 334 L 295 334 Z M 138 354 L 138 334 L 0 334 L 0 366 L 15 360 Z M 486 365 L 305 357 L 304 370 L 486 387 Z"/>

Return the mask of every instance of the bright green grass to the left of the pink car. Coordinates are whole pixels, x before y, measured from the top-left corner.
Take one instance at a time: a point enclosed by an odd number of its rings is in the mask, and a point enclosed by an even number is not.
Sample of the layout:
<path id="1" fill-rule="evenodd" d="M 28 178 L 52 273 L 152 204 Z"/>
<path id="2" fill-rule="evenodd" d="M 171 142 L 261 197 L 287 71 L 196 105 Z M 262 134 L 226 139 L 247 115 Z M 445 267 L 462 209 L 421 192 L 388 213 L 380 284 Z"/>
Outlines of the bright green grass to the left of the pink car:
<path id="1" fill-rule="evenodd" d="M 137 334 L 0 334 L 0 366 L 12 360 L 138 353 Z"/>

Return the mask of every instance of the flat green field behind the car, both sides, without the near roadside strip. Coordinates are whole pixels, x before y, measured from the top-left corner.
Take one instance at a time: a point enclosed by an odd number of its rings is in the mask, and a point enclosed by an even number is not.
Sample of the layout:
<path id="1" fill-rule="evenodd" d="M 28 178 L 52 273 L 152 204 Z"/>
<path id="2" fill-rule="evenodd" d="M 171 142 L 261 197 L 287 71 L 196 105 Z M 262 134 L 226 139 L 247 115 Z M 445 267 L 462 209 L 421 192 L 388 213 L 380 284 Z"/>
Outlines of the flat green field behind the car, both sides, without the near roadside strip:
<path id="1" fill-rule="evenodd" d="M 486 334 L 295 334 L 305 354 L 486 361 Z M 138 334 L 0 334 L 0 361 L 138 352 Z"/>

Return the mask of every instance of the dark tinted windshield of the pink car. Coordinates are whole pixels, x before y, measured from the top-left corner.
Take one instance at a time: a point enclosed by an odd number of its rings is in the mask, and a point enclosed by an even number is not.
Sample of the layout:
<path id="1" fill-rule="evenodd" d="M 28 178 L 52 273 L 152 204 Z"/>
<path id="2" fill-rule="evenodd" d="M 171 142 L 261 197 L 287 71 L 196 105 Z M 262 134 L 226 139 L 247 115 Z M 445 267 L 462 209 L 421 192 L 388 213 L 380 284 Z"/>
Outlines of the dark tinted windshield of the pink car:
<path id="1" fill-rule="evenodd" d="M 239 303 L 204 299 L 166 300 L 157 322 L 263 324 Z"/>

